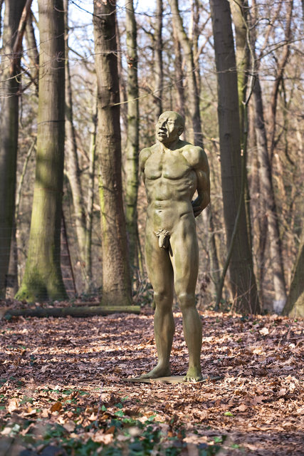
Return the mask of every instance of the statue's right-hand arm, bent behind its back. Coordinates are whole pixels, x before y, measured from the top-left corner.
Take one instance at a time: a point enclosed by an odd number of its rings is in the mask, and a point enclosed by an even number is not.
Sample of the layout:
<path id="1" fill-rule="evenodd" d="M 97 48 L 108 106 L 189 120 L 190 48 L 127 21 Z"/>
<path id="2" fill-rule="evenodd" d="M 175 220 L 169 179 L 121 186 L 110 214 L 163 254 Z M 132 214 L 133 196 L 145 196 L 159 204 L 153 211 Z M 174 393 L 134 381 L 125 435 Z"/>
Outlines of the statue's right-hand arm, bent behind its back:
<path id="1" fill-rule="evenodd" d="M 201 147 L 195 147 L 193 167 L 197 177 L 197 198 L 192 201 L 194 217 L 197 217 L 210 202 L 210 171 L 206 153 Z"/>

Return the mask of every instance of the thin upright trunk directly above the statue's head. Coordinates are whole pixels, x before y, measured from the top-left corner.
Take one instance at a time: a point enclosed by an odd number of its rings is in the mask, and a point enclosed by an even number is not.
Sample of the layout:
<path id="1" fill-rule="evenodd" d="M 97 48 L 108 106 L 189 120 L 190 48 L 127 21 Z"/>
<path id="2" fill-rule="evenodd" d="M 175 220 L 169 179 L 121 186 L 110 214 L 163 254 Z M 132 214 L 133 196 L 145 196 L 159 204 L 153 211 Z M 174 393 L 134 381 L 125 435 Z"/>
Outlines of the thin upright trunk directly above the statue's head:
<path id="1" fill-rule="evenodd" d="M 156 117 L 162 114 L 162 86 L 164 74 L 162 70 L 162 0 L 157 0 L 155 26 L 155 95 L 157 100 Z"/>

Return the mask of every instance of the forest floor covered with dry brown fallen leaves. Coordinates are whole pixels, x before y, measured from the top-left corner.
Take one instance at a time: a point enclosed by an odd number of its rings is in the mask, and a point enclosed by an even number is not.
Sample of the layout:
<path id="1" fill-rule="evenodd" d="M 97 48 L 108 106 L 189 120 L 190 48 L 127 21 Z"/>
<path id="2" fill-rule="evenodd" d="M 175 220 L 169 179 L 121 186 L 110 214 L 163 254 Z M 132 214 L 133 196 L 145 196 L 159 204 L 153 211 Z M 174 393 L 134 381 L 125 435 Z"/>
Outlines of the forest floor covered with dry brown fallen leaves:
<path id="1" fill-rule="evenodd" d="M 172 375 L 182 375 L 174 319 Z M 155 364 L 150 309 L 2 319 L 0 455 L 304 455 L 303 321 L 201 319 L 208 378 L 192 384 L 122 381 Z"/>

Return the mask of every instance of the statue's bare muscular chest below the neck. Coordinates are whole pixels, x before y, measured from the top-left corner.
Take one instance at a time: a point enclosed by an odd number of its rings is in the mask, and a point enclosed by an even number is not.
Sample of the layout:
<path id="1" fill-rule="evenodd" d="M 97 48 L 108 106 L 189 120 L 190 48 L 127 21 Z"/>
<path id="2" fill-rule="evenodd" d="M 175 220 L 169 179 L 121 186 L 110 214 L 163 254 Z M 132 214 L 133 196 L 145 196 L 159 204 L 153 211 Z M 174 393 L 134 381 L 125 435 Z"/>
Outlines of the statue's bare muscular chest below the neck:
<path id="1" fill-rule="evenodd" d="M 182 154 L 156 152 L 148 158 L 145 165 L 147 179 L 181 179 L 189 172 L 190 166 Z"/>

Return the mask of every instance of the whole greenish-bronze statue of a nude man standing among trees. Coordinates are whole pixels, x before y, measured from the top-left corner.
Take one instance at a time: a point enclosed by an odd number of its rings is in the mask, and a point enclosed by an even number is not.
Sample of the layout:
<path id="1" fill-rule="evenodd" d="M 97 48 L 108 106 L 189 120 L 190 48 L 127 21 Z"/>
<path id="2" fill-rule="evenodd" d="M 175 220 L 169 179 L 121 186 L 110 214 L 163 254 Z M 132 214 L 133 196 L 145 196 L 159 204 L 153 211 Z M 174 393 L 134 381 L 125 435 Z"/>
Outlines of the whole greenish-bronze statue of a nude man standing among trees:
<path id="1" fill-rule="evenodd" d="M 154 290 L 154 335 L 158 363 L 142 378 L 171 375 L 174 290 L 182 311 L 189 368 L 184 381 L 201 380 L 201 320 L 195 306 L 199 252 L 194 217 L 209 204 L 209 165 L 201 147 L 179 136 L 184 119 L 174 111 L 159 116 L 157 143 L 140 152 L 147 193 L 145 260 Z M 194 192 L 197 197 L 192 201 Z"/>

